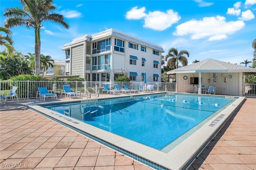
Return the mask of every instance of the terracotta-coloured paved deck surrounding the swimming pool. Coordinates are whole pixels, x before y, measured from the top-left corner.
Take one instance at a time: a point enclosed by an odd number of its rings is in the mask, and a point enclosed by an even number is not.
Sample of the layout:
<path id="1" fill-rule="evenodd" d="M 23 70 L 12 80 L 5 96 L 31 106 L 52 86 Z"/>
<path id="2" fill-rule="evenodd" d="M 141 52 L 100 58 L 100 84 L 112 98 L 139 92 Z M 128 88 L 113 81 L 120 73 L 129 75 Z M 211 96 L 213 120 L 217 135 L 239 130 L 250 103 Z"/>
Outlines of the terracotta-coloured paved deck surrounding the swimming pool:
<path id="1" fill-rule="evenodd" d="M 100 98 L 110 96 L 114 95 Z M 62 97 L 58 101 L 75 99 Z M 46 98 L 45 102 L 54 101 Z M 1 101 L 1 170 L 151 169 L 25 107 L 36 102 L 42 101 Z M 246 98 L 188 170 L 256 170 L 255 104 L 256 98 Z"/>

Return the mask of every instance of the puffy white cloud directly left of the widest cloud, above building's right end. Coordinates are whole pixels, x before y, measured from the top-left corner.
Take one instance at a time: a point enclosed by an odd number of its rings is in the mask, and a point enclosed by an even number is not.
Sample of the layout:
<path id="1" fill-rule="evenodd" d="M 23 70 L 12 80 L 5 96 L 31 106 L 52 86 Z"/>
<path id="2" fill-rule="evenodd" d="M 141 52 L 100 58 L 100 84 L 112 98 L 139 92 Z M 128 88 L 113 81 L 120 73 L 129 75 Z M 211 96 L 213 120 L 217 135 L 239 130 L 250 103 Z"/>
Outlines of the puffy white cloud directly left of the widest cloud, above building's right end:
<path id="1" fill-rule="evenodd" d="M 154 30 L 162 31 L 172 24 L 177 23 L 180 16 L 173 10 L 168 10 L 166 13 L 160 11 L 149 12 L 145 18 L 143 27 L 151 28 Z"/>

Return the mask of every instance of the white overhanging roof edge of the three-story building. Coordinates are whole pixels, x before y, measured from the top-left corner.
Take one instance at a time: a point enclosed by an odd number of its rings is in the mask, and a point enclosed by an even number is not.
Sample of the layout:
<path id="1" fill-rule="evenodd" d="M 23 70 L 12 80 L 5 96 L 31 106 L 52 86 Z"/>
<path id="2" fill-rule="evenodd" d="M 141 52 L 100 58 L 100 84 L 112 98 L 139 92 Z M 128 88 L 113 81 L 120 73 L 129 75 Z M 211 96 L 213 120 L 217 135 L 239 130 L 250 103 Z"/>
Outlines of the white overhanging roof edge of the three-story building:
<path id="1" fill-rule="evenodd" d="M 130 42 L 133 42 L 133 43 L 136 43 L 136 44 L 140 44 L 140 45 L 145 46 L 145 47 L 150 47 L 152 49 L 156 49 L 156 50 L 161 51 L 162 53 L 164 53 L 163 48 L 159 45 L 150 43 L 148 41 L 144 41 L 142 39 L 136 38 L 132 35 L 128 35 L 126 33 L 123 33 L 121 31 L 118 31 L 118 30 L 113 29 L 113 28 L 107 29 L 106 31 L 102 31 L 100 33 L 96 33 L 96 34 L 93 34 L 93 35 L 86 34 L 86 35 L 83 35 L 81 37 L 75 38 L 75 39 L 73 39 L 73 41 L 71 43 L 65 44 L 64 47 L 62 48 L 62 50 L 69 48 L 70 45 L 80 43 L 82 41 L 95 41 L 97 39 L 108 37 L 110 35 L 113 35 L 113 36 L 121 38 L 121 39 L 125 39 L 127 41 L 130 41 Z"/>

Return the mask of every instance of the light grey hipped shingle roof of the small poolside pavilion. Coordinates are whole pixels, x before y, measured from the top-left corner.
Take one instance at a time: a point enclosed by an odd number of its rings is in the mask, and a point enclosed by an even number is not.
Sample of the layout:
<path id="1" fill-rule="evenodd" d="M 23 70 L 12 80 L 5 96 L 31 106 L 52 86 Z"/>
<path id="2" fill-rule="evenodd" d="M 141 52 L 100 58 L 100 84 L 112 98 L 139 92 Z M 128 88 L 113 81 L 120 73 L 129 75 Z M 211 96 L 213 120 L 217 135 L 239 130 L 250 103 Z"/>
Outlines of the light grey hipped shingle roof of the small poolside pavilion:
<path id="1" fill-rule="evenodd" d="M 170 70 L 167 74 L 193 72 L 247 72 L 250 74 L 256 74 L 256 69 L 214 59 L 206 59 L 198 63 Z"/>

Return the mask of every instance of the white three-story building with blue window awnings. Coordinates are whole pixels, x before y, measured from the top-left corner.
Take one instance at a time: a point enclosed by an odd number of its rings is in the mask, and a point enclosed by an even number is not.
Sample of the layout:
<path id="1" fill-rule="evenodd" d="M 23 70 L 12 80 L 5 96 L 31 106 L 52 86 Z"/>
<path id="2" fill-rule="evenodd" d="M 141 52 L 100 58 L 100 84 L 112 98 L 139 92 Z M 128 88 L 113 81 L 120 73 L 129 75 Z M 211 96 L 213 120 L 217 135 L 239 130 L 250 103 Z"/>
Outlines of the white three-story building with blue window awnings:
<path id="1" fill-rule="evenodd" d="M 161 82 L 159 45 L 115 29 L 84 35 L 65 44 L 65 75 L 80 75 L 86 81 L 111 81 L 128 73 L 132 81 Z"/>

